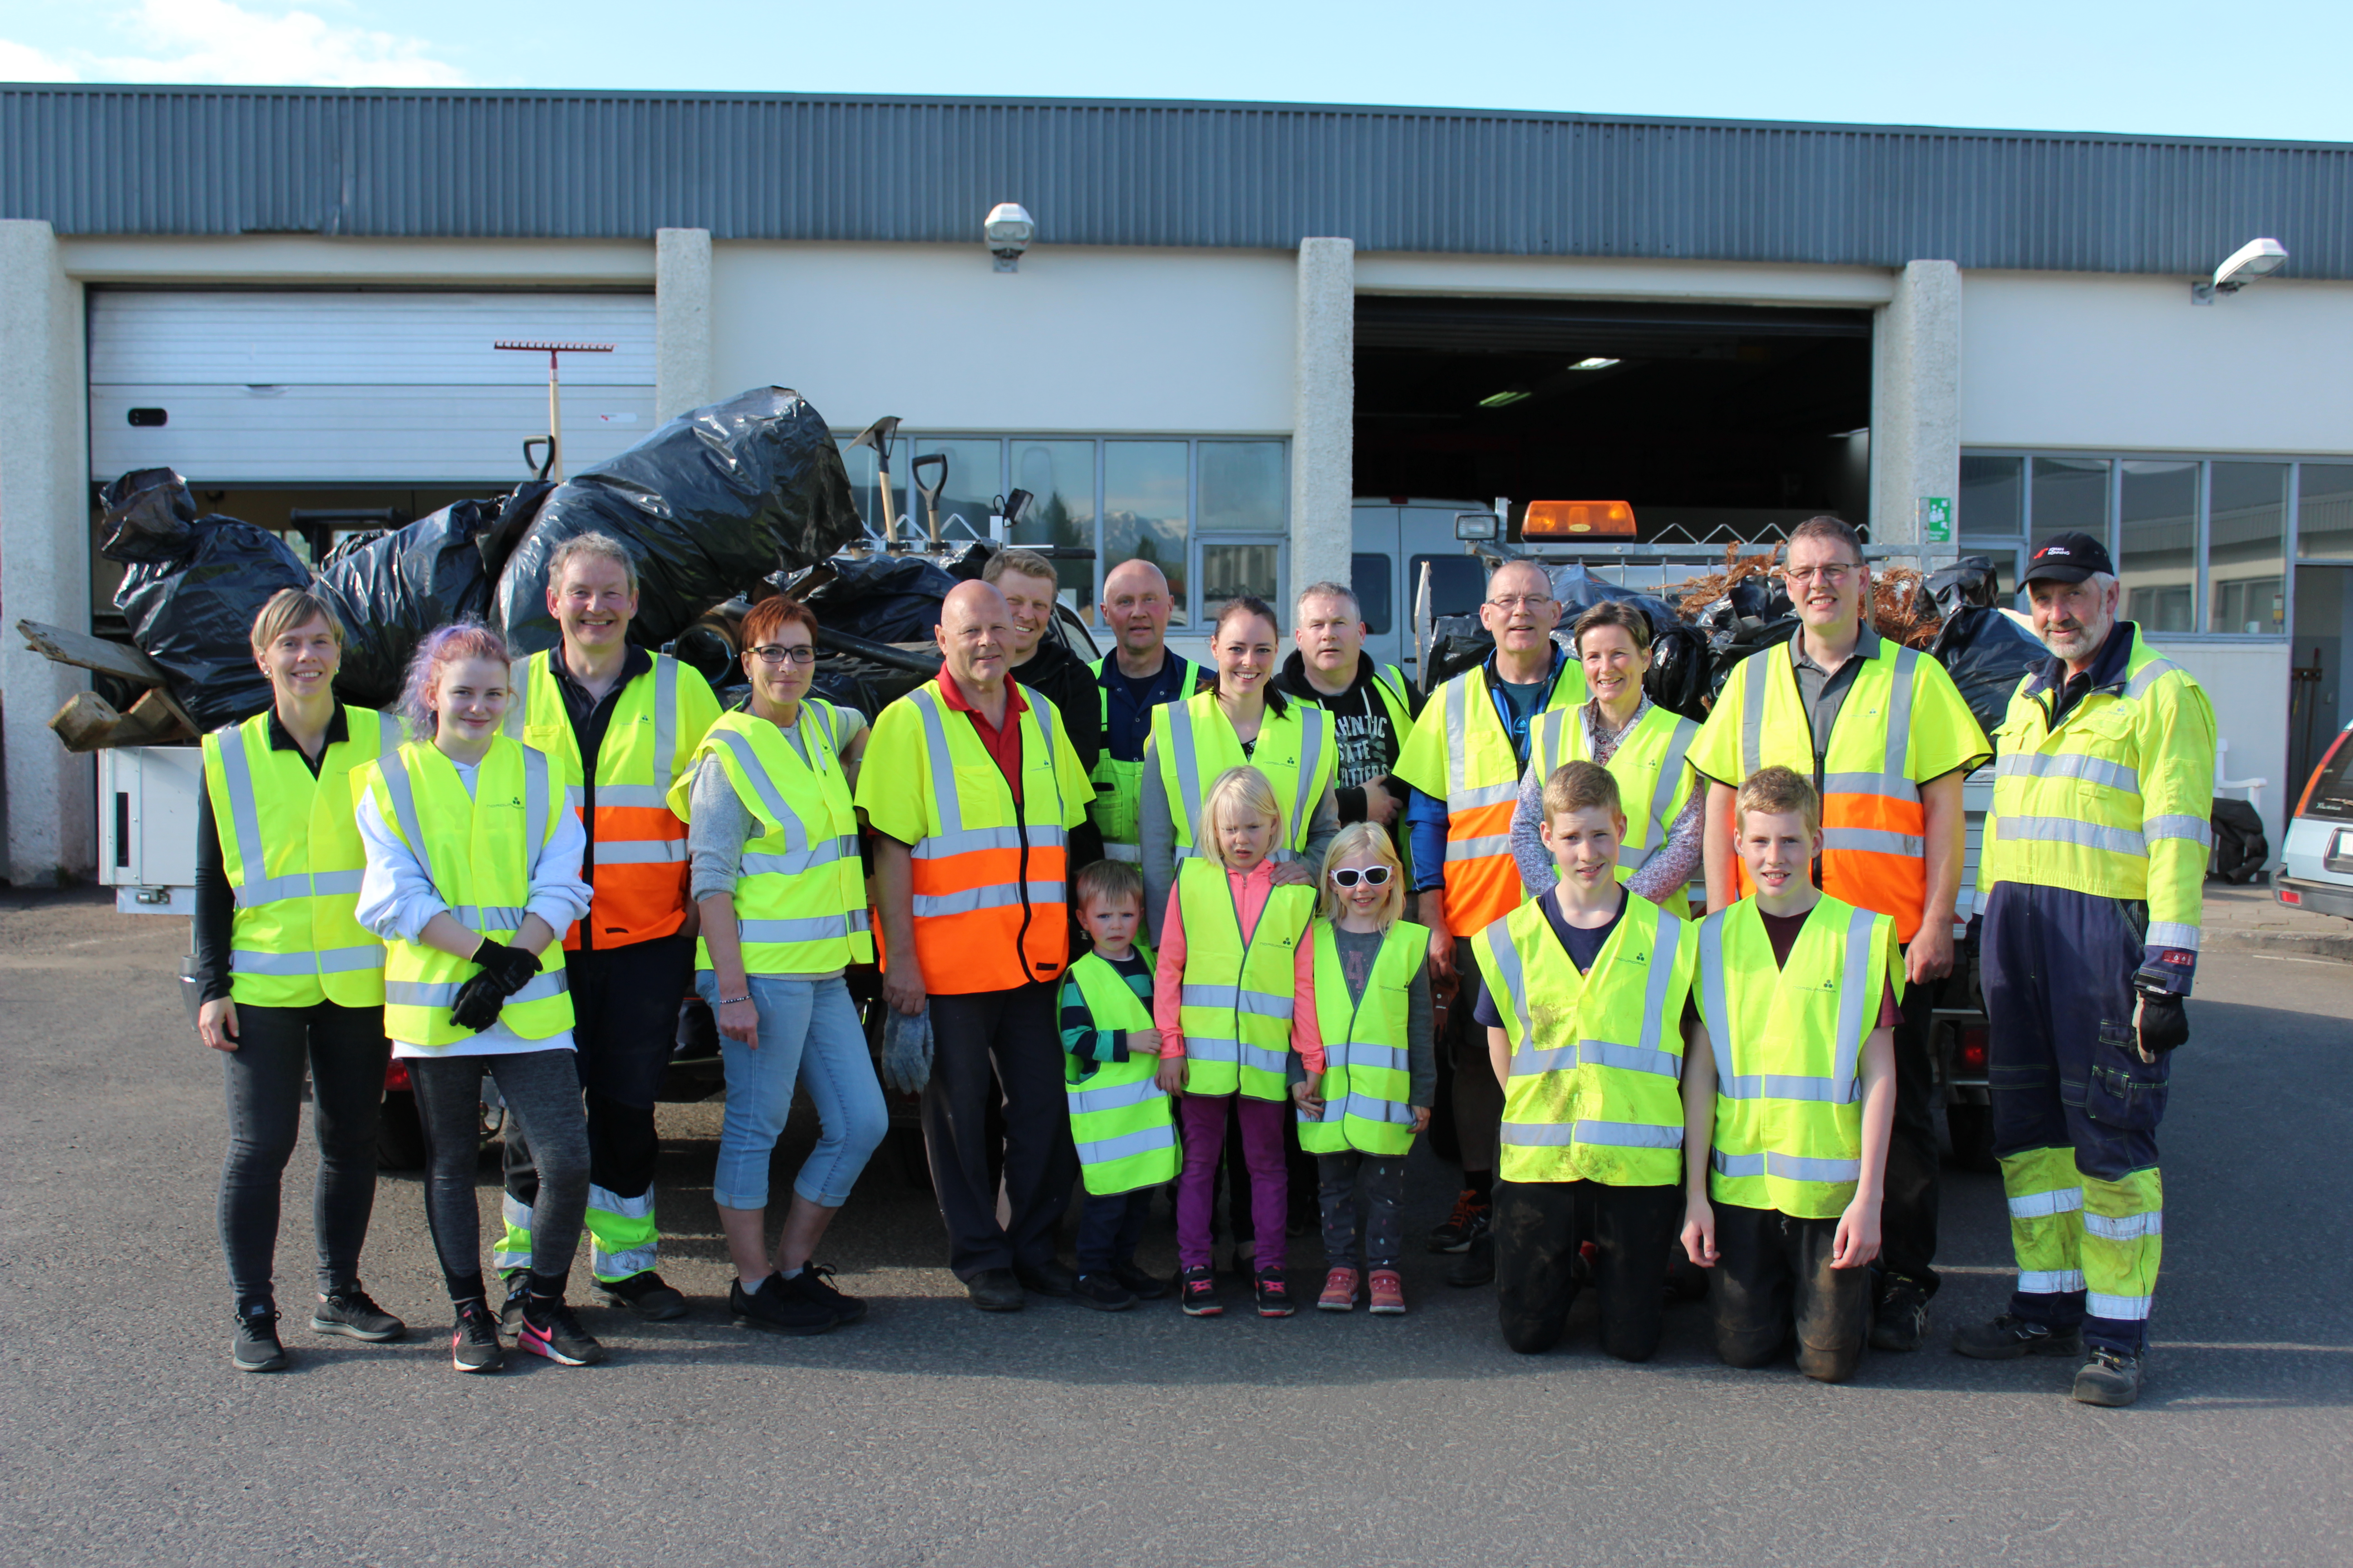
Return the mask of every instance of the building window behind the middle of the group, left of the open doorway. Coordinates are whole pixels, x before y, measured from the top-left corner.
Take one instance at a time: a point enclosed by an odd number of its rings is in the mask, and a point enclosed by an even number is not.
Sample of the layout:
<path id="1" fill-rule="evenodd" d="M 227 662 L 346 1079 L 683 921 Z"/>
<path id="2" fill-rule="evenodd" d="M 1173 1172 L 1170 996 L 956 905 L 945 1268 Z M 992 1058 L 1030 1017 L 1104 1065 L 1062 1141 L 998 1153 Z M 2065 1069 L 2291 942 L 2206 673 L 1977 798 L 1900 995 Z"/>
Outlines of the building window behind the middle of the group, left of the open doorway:
<path id="1" fill-rule="evenodd" d="M 875 454 L 842 444 L 859 515 L 880 522 Z M 1217 604 L 1252 592 L 1280 602 L 1289 557 L 1289 442 L 1219 437 L 908 435 L 892 451 L 899 536 L 927 538 L 929 515 L 913 487 L 913 458 L 946 456 L 941 536 L 981 538 L 995 501 L 1031 491 L 1012 543 L 1094 550 L 1064 559 L 1061 597 L 1092 618 L 1104 574 L 1148 559 L 1169 578 L 1169 625 L 1200 625 Z M 911 512 L 913 503 L 913 512 Z"/>

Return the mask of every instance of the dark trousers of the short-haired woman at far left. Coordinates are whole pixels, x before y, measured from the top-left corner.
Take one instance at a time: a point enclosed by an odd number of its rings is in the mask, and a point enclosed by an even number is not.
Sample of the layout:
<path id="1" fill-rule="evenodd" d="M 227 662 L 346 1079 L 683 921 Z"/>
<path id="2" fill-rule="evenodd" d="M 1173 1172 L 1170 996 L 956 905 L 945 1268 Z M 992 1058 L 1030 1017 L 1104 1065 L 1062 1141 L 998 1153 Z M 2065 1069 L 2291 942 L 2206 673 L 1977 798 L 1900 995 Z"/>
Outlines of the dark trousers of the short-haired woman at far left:
<path id="1" fill-rule="evenodd" d="M 221 1053 L 228 1084 L 228 1159 L 221 1161 L 221 1251 L 238 1312 L 275 1300 L 278 1187 L 301 1128 L 311 1070 L 318 1182 L 318 1288 L 360 1281 L 360 1244 L 376 1206 L 376 1112 L 384 1105 L 381 1006 L 240 1006 L 238 1048 Z"/>

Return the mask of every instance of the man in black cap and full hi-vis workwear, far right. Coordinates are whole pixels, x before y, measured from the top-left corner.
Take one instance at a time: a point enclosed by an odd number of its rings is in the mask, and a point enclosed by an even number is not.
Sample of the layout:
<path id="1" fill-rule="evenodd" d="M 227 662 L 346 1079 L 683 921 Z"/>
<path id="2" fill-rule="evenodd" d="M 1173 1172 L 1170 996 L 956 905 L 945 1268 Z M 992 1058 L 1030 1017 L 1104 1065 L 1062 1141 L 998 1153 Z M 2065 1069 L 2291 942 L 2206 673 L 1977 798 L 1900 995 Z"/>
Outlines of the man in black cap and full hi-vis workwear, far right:
<path id="1" fill-rule="evenodd" d="M 2075 1399 L 2129 1406 L 2165 1246 L 2158 1121 L 2191 1037 L 2214 705 L 2118 618 L 2101 541 L 2045 538 L 2024 585 L 2052 656 L 2002 715 L 1977 875 L 2019 1288 L 1953 1349 L 2080 1356 Z"/>

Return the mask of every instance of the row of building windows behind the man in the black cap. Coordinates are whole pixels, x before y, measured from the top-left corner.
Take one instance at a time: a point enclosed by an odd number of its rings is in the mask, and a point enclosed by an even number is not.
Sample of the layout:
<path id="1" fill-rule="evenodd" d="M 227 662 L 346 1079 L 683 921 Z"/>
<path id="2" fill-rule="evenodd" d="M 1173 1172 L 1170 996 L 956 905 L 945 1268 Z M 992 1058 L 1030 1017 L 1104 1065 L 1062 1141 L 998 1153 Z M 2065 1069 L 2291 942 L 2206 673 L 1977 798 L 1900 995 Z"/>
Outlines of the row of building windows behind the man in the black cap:
<path id="1" fill-rule="evenodd" d="M 2285 637 L 2289 538 L 2297 559 L 2353 559 L 2353 463 L 1962 454 L 1960 548 L 1995 557 L 2005 588 L 2068 529 L 2108 543 L 2122 614 L 2151 637 Z"/>

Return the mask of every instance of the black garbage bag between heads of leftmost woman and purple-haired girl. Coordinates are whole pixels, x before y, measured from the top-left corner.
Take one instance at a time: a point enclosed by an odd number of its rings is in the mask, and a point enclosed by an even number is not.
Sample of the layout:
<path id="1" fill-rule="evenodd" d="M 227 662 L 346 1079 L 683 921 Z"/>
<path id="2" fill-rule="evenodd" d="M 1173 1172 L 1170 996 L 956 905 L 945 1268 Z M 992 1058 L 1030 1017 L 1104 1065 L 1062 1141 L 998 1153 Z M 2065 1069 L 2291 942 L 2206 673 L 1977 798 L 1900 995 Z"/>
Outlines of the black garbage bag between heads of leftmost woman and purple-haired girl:
<path id="1" fill-rule="evenodd" d="M 480 536 L 499 505 L 459 501 L 393 534 L 346 541 L 320 564 L 318 588 L 344 621 L 334 689 L 346 703 L 391 705 L 426 632 L 489 614 Z"/>

